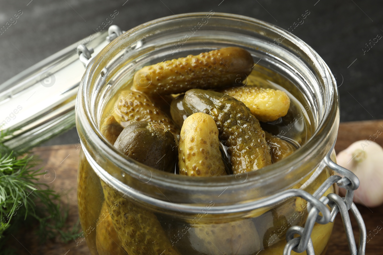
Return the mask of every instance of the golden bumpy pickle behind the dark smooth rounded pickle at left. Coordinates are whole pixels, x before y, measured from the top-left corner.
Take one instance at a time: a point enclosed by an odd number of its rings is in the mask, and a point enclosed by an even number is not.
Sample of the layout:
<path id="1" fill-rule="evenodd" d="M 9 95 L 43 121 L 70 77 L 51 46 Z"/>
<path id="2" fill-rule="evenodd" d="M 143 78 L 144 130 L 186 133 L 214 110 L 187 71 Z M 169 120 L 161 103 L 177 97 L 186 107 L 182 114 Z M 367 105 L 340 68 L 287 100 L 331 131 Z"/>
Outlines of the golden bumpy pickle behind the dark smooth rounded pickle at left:
<path id="1" fill-rule="evenodd" d="M 137 121 L 155 121 L 163 123 L 178 142 L 180 131 L 173 120 L 155 106 L 149 97 L 137 91 L 125 90 L 119 94 L 113 117 L 123 127 Z"/>

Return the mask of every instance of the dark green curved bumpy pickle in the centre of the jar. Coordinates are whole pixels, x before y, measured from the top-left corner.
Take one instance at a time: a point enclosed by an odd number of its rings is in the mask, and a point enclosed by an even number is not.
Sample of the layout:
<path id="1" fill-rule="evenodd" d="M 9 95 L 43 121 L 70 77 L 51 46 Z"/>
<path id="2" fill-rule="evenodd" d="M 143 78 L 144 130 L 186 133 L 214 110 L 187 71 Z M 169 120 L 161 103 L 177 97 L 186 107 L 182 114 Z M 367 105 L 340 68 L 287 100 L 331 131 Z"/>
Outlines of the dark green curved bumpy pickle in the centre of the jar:
<path id="1" fill-rule="evenodd" d="M 234 174 L 255 171 L 272 163 L 270 148 L 259 121 L 244 103 L 215 91 L 190 89 L 183 99 L 188 114 L 205 112 L 213 117 L 231 156 Z"/>

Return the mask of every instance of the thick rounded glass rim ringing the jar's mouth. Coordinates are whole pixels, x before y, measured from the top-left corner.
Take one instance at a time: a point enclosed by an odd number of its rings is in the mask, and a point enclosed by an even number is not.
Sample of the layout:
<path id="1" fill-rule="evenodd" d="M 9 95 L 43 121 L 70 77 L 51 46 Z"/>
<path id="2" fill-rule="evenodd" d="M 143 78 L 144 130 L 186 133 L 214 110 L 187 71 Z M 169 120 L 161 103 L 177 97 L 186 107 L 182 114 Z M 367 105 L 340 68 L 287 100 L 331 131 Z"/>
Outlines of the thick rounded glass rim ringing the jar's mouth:
<path id="1" fill-rule="evenodd" d="M 113 162 L 113 164 L 118 166 L 123 172 L 128 173 L 135 179 L 140 178 L 142 171 L 147 172 L 148 167 L 134 162 L 127 163 L 126 157 L 124 157 L 110 143 L 108 143 L 105 138 L 103 138 L 103 135 L 99 130 L 99 126 L 94 118 L 94 112 L 90 109 L 91 103 L 88 99 L 90 97 L 90 93 L 92 93 L 90 85 L 97 80 L 96 76 L 97 70 L 100 69 L 100 62 L 103 60 L 105 61 L 106 57 L 110 58 L 110 56 L 116 54 L 113 53 L 113 49 L 120 47 L 123 41 L 129 40 L 129 37 L 137 36 L 137 34 L 145 29 L 159 26 L 159 24 L 164 25 L 177 19 L 184 20 L 188 18 L 204 17 L 205 15 L 205 12 L 185 13 L 167 16 L 141 24 L 127 31 L 107 45 L 105 49 L 100 52 L 100 54 L 93 58 L 92 62 L 90 62 L 87 70 L 85 71 L 83 79 L 80 83 L 79 96 L 77 96 L 76 102 L 77 130 L 80 135 L 82 149 L 87 156 L 87 160 L 89 162 L 92 161 L 92 167 L 97 168 L 97 172 L 102 175 L 100 176 L 101 179 L 105 181 L 108 180 L 108 183 L 111 185 L 119 186 L 120 190 L 131 189 L 131 186 L 127 183 L 121 182 L 121 179 L 116 177 L 116 173 L 112 174 L 108 172 L 108 170 L 102 166 L 103 163 L 99 160 L 99 158 L 103 158 L 100 157 L 100 155 L 106 155 L 106 158 L 109 158 L 110 162 Z M 316 130 L 307 143 L 283 161 L 263 167 L 262 169 L 254 172 L 214 178 L 200 177 L 195 179 L 160 171 L 153 172 L 149 169 L 151 174 L 150 184 L 157 187 L 157 189 L 165 189 L 171 186 L 172 190 L 183 189 L 191 193 L 201 189 L 204 189 L 207 192 L 211 191 L 217 193 L 222 192 L 224 187 L 231 187 L 231 189 L 260 188 L 262 185 L 265 185 L 265 183 L 270 185 L 271 182 L 283 180 L 287 176 L 290 176 L 289 178 L 295 182 L 303 179 L 314 169 L 312 167 L 305 168 L 304 166 L 307 165 L 308 162 L 310 163 L 310 166 L 318 166 L 336 140 L 336 133 L 339 125 L 339 109 L 338 94 L 334 76 L 322 58 L 319 57 L 319 55 L 308 44 L 282 28 L 259 19 L 229 13 L 214 13 L 214 18 L 232 19 L 239 22 L 251 23 L 254 24 L 254 26 L 263 27 L 264 29 L 268 29 L 285 37 L 286 41 L 292 43 L 300 49 L 302 54 L 306 54 L 311 62 L 309 68 L 315 69 L 318 72 L 317 78 L 325 86 L 324 88 L 327 92 L 326 95 L 323 95 L 325 97 L 324 101 L 326 101 L 326 107 L 324 107 L 325 109 L 322 109 L 323 115 L 321 116 L 321 119 L 318 120 Z M 92 133 L 92 135 L 89 138 L 86 138 L 84 136 L 85 133 Z M 297 169 L 300 169 L 300 171 L 296 171 Z M 239 178 L 246 179 L 244 182 L 238 182 Z M 289 188 L 293 184 L 294 182 L 291 182 L 289 185 L 277 187 L 275 188 L 274 193 Z M 262 195 L 272 195 L 272 193 L 258 194 L 260 197 L 262 197 Z"/>

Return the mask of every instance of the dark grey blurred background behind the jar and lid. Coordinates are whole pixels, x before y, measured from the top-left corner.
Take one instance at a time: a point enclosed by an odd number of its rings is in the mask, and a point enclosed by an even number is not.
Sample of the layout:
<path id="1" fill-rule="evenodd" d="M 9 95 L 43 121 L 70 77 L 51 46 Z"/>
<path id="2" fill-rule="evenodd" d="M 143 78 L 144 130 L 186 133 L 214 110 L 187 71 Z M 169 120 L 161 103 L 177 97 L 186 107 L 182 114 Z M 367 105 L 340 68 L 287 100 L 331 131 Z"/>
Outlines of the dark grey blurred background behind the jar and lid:
<path id="1" fill-rule="evenodd" d="M 235 13 L 289 28 L 316 50 L 337 78 L 340 120 L 383 119 L 383 2 L 362 0 L 0 0 L 0 27 L 18 10 L 17 23 L 0 35 L 0 83 L 58 50 L 94 33 L 115 10 L 123 30 L 163 16 L 210 11 Z M 12 45 L 13 44 L 13 45 Z M 365 48 L 367 49 L 367 48 Z M 45 145 L 79 142 L 75 129 Z"/>

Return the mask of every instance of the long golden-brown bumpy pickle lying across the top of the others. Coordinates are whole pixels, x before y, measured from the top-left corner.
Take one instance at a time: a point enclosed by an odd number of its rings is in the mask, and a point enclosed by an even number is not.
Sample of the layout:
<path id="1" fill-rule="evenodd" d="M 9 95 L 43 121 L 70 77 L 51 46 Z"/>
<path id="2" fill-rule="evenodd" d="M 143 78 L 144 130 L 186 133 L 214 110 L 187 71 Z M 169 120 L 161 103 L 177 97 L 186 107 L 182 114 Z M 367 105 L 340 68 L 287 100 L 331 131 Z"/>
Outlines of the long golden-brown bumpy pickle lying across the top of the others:
<path id="1" fill-rule="evenodd" d="M 223 88 L 244 80 L 253 64 L 251 54 L 242 48 L 212 50 L 144 67 L 134 75 L 132 89 L 167 95 L 192 88 Z"/>

